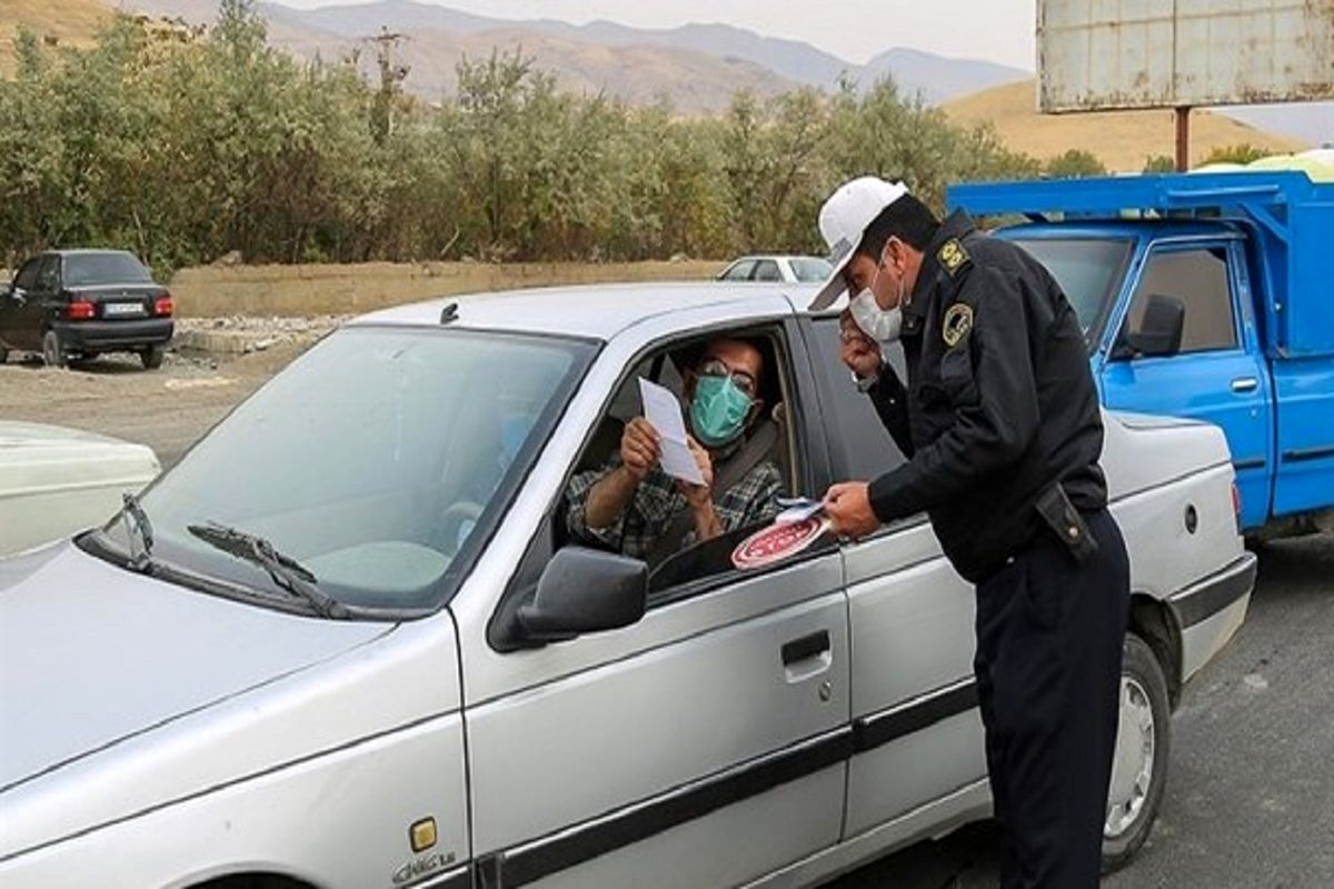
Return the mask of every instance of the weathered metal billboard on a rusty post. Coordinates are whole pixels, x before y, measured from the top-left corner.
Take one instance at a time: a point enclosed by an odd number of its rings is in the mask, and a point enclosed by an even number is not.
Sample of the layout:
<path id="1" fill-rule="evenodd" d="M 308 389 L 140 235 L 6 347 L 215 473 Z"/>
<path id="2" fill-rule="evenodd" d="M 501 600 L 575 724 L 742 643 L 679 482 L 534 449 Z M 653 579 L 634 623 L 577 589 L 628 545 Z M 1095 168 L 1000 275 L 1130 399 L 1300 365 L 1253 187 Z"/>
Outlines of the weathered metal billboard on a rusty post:
<path id="1" fill-rule="evenodd" d="M 1038 0 L 1043 112 L 1334 99 L 1334 0 Z"/>

